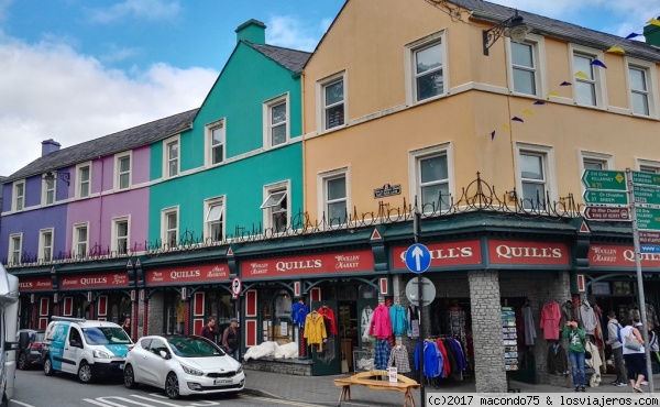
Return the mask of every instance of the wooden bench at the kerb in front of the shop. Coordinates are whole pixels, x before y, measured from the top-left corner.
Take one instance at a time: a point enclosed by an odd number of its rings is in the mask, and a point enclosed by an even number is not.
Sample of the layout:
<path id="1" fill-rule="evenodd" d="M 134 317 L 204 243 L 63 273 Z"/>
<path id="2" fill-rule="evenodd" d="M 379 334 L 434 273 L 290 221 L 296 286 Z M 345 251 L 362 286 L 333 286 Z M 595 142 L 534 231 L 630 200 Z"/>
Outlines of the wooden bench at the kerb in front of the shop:
<path id="1" fill-rule="evenodd" d="M 350 377 L 336 378 L 334 385 L 341 387 L 339 394 L 339 404 L 342 400 L 351 399 L 351 386 L 365 386 L 374 391 L 395 391 L 404 393 L 404 407 L 415 407 L 413 389 L 420 387 L 419 383 L 403 375 L 397 376 L 397 383 L 389 383 L 389 372 L 374 370 L 370 372 L 360 372 Z"/>

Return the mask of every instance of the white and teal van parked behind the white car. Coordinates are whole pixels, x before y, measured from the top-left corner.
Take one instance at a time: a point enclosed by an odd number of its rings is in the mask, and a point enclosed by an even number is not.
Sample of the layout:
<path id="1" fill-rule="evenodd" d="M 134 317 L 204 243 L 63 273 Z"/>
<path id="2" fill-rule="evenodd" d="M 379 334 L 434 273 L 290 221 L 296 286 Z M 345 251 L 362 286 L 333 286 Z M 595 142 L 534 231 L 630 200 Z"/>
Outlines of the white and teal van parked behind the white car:
<path id="1" fill-rule="evenodd" d="M 131 338 L 117 323 L 53 317 L 43 343 L 44 373 L 76 374 L 82 383 L 122 376 L 124 358 L 132 345 Z"/>

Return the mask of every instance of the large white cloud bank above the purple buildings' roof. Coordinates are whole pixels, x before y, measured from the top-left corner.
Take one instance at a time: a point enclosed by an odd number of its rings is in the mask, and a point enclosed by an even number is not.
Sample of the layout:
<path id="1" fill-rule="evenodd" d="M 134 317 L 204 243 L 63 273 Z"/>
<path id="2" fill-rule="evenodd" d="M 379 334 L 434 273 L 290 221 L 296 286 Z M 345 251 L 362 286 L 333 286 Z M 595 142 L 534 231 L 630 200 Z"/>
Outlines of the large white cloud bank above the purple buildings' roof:
<path id="1" fill-rule="evenodd" d="M 217 72 L 165 64 L 129 78 L 70 46 L 0 37 L 0 175 L 41 155 L 201 106 Z"/>

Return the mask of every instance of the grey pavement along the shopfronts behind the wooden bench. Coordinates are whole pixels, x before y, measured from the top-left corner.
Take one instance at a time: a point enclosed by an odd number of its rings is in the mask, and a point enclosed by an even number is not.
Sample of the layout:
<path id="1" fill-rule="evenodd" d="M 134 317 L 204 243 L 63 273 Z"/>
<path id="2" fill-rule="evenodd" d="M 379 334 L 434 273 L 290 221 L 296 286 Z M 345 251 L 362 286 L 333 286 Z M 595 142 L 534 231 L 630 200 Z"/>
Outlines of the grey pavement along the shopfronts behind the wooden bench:
<path id="1" fill-rule="evenodd" d="M 245 371 L 246 394 L 299 402 L 305 404 L 315 404 L 323 406 L 339 406 L 340 387 L 334 385 L 334 378 L 346 377 L 349 374 L 332 376 L 296 376 L 282 373 L 271 373 L 261 371 Z M 614 375 L 603 375 L 598 387 L 586 387 L 586 394 L 603 393 L 626 393 L 632 392 L 630 386 L 617 387 L 610 383 L 616 377 Z M 575 394 L 570 384 L 570 377 L 566 378 L 566 385 L 553 386 L 546 384 L 528 384 L 512 381 L 510 388 L 520 389 L 520 393 L 572 393 Z M 653 375 L 653 385 L 656 395 L 660 393 L 660 374 Z M 642 386 L 646 393 L 649 393 L 649 386 Z M 425 386 L 425 392 L 448 393 L 475 393 L 475 385 L 469 381 L 444 382 L 438 387 Z M 580 393 L 581 395 L 585 393 Z M 425 407 L 421 403 L 420 391 L 414 391 L 415 404 Z M 369 389 L 364 386 L 351 387 L 351 400 L 342 402 L 342 406 L 400 406 L 404 402 L 404 394 L 397 392 L 378 392 Z"/>

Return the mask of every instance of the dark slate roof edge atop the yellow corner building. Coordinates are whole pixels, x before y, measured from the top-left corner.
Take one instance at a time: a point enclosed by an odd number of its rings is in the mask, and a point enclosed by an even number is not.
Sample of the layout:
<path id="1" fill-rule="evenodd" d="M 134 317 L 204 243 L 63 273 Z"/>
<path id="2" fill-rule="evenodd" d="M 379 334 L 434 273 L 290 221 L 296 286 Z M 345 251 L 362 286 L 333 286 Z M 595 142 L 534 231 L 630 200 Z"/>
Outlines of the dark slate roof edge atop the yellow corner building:
<path id="1" fill-rule="evenodd" d="M 510 7 L 494 4 L 483 0 L 449 0 L 449 2 L 472 10 L 472 19 L 493 23 L 499 23 L 513 16 L 516 11 L 516 9 Z M 647 61 L 660 61 L 660 48 L 640 41 L 625 40 L 620 36 L 532 14 L 522 10 L 518 10 L 518 15 L 525 19 L 526 24 L 534 28 L 534 33 L 566 40 L 602 51 L 616 45 L 624 48 L 627 55 Z"/>

